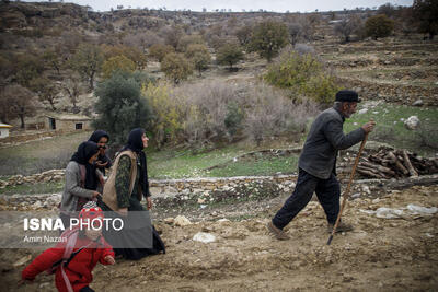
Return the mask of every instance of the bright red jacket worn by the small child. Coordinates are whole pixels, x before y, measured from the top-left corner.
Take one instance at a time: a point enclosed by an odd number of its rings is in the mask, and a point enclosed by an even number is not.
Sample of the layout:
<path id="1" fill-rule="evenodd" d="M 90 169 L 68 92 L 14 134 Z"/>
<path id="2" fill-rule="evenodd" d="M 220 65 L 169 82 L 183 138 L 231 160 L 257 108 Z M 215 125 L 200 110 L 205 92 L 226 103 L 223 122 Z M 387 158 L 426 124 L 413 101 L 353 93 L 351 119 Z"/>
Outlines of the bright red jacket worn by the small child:
<path id="1" fill-rule="evenodd" d="M 78 237 L 74 245 L 73 253 L 90 243 L 88 237 Z M 71 287 L 74 292 L 89 285 L 93 280 L 91 271 L 94 269 L 97 261 L 102 265 L 108 265 L 105 260 L 106 256 L 113 256 L 113 248 L 101 236 L 100 246 L 97 243 L 93 243 L 88 248 L 83 248 L 79 252 L 73 259 L 64 268 L 67 277 L 70 280 Z M 55 262 L 60 260 L 64 255 L 66 243 L 58 243 L 55 247 L 43 252 L 37 256 L 22 272 L 23 280 L 34 280 L 36 275 L 49 269 Z M 99 248 L 96 248 L 99 246 Z M 62 279 L 61 269 L 56 269 L 55 284 L 58 291 L 67 292 L 66 283 Z"/>

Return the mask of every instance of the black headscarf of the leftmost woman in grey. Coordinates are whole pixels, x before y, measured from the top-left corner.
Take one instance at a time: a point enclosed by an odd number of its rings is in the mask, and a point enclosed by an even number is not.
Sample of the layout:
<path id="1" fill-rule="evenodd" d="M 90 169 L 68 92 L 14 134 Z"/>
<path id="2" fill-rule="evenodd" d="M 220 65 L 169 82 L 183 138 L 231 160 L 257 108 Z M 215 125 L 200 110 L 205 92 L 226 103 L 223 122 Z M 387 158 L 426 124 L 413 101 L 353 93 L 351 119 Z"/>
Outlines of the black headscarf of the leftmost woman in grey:
<path id="1" fill-rule="evenodd" d="M 95 190 L 97 188 L 99 178 L 95 167 L 89 163 L 89 160 L 99 152 L 97 144 L 92 141 L 82 142 L 78 147 L 78 151 L 71 156 L 71 161 L 85 166 L 84 188 Z"/>

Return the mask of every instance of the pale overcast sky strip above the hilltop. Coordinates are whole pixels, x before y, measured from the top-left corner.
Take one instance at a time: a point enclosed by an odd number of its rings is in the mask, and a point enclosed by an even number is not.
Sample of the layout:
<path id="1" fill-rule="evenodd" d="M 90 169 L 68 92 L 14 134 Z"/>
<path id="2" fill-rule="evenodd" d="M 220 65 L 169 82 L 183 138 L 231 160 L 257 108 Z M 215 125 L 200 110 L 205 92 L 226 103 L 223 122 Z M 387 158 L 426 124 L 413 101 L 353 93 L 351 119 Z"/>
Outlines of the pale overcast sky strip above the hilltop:
<path id="1" fill-rule="evenodd" d="M 59 0 L 54 0 L 54 2 L 57 1 Z M 124 8 L 130 7 L 132 9 L 165 8 L 166 10 L 189 9 L 192 11 L 201 11 L 203 8 L 206 8 L 207 11 L 231 9 L 234 12 L 241 12 L 243 9 L 245 11 L 263 9 L 276 12 L 286 12 L 287 10 L 290 12 L 311 12 L 316 9 L 319 11 L 335 11 L 344 8 L 374 8 L 384 3 L 407 7 L 412 5 L 413 0 L 65 0 L 65 2 L 90 5 L 94 11 L 108 11 L 112 8 L 116 9 L 117 5 L 124 5 Z"/>

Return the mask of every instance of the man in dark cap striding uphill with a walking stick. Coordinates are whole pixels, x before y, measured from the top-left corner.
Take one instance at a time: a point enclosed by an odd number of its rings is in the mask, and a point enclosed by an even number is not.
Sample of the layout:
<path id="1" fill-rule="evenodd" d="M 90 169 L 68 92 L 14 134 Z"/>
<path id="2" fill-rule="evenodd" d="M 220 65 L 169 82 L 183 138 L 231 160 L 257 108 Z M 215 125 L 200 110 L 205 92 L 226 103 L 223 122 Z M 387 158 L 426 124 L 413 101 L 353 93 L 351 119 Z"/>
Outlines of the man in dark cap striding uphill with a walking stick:
<path id="1" fill-rule="evenodd" d="M 313 192 L 326 214 L 331 233 L 339 212 L 341 186 L 336 179 L 336 156 L 338 150 L 348 149 L 364 140 L 372 131 L 376 122 L 369 121 L 360 128 L 344 135 L 346 118 L 356 113 L 360 100 L 354 91 L 336 93 L 332 108 L 322 112 L 313 121 L 298 161 L 298 179 L 293 194 L 267 224 L 268 231 L 277 240 L 289 240 L 283 229 L 309 203 Z M 341 222 L 337 232 L 350 231 L 349 224 Z"/>

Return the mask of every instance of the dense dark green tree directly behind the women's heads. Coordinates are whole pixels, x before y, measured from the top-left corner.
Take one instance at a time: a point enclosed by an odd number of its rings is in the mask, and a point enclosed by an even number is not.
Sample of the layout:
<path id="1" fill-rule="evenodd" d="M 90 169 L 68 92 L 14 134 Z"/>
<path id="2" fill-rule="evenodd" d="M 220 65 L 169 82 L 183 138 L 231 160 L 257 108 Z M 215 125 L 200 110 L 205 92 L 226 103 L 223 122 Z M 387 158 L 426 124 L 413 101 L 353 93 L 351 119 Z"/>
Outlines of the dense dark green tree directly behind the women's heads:
<path id="1" fill-rule="evenodd" d="M 95 128 L 106 130 L 114 144 L 126 143 L 132 128 L 145 127 L 151 118 L 147 100 L 141 94 L 141 84 L 132 73 L 116 72 L 99 83 L 95 110 L 99 118 Z"/>

